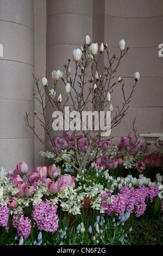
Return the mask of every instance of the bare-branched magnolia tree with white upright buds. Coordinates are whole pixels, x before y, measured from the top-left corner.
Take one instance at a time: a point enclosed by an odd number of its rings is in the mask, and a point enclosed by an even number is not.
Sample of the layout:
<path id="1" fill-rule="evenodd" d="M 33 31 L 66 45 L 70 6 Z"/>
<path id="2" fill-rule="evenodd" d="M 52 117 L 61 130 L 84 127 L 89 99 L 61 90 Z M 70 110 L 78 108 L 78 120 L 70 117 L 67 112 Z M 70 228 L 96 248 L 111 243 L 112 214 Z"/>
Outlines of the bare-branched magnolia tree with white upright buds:
<path id="1" fill-rule="evenodd" d="M 124 93 L 124 82 L 121 77 L 115 79 L 115 73 L 121 63 L 121 59 L 127 53 L 126 42 L 120 41 L 120 56 L 109 56 L 107 44 L 91 44 L 90 36 L 84 39 L 84 45 L 72 52 L 72 60 L 64 63 L 63 70 L 53 70 L 53 88 L 48 84 L 47 78 L 42 78 L 42 89 L 39 88 L 39 79 L 34 77 L 36 89 L 34 96 L 42 105 L 42 118 L 34 111 L 41 126 L 49 137 L 49 143 L 45 143 L 35 132 L 35 127 L 29 124 L 29 114 L 26 113 L 27 125 L 34 131 L 36 137 L 45 144 L 46 148 L 52 150 L 80 174 L 85 170 L 88 163 L 96 159 L 98 154 L 110 148 L 110 131 L 121 123 L 127 114 L 129 102 L 133 95 L 139 72 L 134 74 L 134 84 L 130 95 Z M 102 54 L 106 54 L 107 64 L 103 67 L 103 73 L 99 72 L 99 60 Z M 71 61 L 75 64 L 72 74 Z M 113 79 L 114 78 L 114 79 Z M 65 87 L 65 95 L 59 92 L 61 80 Z M 57 88 L 59 84 L 59 88 Z M 114 87 L 121 84 L 123 95 L 122 106 L 116 106 L 114 111 L 111 104 L 111 94 Z M 51 88 L 51 89 L 50 89 Z M 85 93 L 87 92 L 87 93 Z M 58 94 L 58 95 L 57 95 Z M 46 101 L 44 97 L 46 96 Z M 68 101 L 71 103 L 67 104 Z M 52 123 L 46 119 L 46 108 L 53 108 Z M 62 130 L 62 137 L 53 137 L 56 130 Z M 76 164 L 64 158 L 64 150 L 76 159 Z M 93 153 L 93 154 L 92 154 Z"/>

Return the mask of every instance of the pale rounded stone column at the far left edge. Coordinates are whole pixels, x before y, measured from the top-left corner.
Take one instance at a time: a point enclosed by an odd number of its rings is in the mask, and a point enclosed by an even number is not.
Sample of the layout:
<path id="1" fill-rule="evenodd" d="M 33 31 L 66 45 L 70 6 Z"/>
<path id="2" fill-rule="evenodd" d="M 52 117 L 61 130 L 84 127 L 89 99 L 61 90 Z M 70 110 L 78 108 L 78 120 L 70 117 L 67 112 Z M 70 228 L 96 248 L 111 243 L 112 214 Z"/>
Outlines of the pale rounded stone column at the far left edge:
<path id="1" fill-rule="evenodd" d="M 0 34 L 0 167 L 15 169 L 25 161 L 34 166 L 34 134 L 26 126 L 26 111 L 34 124 L 33 0 L 1 0 Z"/>

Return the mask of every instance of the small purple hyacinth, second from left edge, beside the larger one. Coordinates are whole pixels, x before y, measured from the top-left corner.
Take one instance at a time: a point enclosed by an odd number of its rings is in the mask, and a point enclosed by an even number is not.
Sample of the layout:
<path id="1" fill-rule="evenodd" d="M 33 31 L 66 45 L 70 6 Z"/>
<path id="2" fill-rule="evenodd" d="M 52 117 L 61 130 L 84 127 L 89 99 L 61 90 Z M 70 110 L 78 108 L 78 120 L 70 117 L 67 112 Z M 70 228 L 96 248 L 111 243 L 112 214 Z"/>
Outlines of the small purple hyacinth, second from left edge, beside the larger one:
<path id="1" fill-rule="evenodd" d="M 23 236 L 26 239 L 30 235 L 30 219 L 24 217 L 22 211 L 18 211 L 18 214 L 13 216 L 12 225 L 17 229 L 17 236 Z"/>

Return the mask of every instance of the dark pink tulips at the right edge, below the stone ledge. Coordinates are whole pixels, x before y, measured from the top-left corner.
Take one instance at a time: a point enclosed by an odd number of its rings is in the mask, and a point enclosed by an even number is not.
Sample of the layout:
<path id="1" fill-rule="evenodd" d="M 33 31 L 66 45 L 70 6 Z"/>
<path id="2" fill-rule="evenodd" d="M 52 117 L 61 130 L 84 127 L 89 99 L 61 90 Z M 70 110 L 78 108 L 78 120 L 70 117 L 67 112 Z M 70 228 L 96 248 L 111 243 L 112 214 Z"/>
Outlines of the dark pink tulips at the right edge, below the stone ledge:
<path id="1" fill-rule="evenodd" d="M 146 155 L 142 161 L 136 162 L 136 168 L 138 172 L 143 172 L 143 170 L 146 169 L 147 166 L 155 166 L 160 167 L 163 165 L 163 156 L 160 155 L 160 153 L 151 153 Z"/>

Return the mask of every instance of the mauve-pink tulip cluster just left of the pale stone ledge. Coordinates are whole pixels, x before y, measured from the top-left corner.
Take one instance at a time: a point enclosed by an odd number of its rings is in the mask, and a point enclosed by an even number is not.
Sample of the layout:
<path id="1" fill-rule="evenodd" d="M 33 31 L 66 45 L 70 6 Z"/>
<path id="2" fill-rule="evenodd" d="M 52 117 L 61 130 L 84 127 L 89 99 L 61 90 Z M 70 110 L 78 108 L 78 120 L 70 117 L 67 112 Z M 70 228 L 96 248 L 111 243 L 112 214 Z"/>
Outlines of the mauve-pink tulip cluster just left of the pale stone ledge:
<path id="1" fill-rule="evenodd" d="M 126 149 L 132 155 L 136 154 L 137 151 L 143 147 L 145 141 L 141 138 L 138 138 L 137 140 L 133 138 L 134 135 L 132 132 L 129 132 L 128 137 L 121 137 L 119 148 Z"/>

